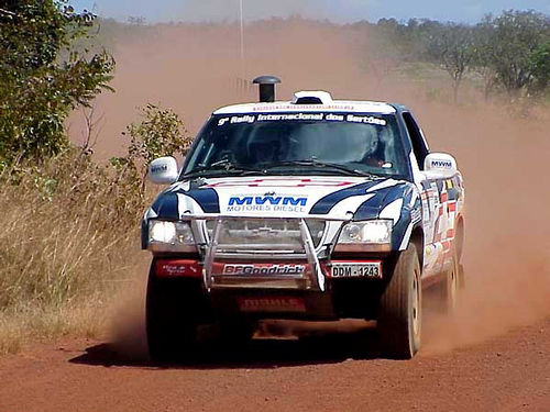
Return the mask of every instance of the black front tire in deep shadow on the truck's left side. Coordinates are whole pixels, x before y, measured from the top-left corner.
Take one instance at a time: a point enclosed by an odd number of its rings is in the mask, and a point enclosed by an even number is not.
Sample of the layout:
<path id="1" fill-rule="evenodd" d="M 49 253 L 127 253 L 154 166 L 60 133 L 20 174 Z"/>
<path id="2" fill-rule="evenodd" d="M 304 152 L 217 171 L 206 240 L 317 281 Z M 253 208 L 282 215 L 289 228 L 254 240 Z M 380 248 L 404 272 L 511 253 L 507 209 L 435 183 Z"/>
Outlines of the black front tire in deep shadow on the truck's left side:
<path id="1" fill-rule="evenodd" d="M 164 279 L 148 275 L 145 321 L 152 360 L 169 361 L 188 357 L 196 348 L 199 316 L 206 298 L 199 279 Z"/>

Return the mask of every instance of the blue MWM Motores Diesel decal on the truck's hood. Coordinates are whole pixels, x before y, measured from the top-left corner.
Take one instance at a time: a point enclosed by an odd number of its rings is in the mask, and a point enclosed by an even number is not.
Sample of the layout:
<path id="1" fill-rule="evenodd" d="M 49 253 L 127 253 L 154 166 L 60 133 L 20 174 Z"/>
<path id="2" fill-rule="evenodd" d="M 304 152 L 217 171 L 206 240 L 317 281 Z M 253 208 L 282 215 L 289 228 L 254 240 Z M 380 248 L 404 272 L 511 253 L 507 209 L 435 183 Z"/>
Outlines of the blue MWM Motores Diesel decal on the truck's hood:
<path id="1" fill-rule="evenodd" d="M 307 202 L 294 196 L 233 196 L 228 212 L 304 212 Z"/>

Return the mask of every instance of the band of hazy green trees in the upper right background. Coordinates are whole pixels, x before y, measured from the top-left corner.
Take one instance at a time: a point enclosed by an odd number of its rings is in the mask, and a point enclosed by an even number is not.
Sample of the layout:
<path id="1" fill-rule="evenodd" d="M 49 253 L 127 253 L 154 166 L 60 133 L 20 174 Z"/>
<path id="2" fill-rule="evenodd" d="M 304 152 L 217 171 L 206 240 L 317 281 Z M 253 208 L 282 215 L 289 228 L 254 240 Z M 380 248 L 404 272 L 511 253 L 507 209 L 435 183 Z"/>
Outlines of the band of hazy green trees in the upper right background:
<path id="1" fill-rule="evenodd" d="M 449 73 L 454 96 L 469 70 L 484 81 L 485 96 L 543 96 L 550 83 L 550 18 L 535 11 L 504 11 L 475 26 L 411 19 L 381 19 L 376 33 L 404 60 L 433 62 Z"/>

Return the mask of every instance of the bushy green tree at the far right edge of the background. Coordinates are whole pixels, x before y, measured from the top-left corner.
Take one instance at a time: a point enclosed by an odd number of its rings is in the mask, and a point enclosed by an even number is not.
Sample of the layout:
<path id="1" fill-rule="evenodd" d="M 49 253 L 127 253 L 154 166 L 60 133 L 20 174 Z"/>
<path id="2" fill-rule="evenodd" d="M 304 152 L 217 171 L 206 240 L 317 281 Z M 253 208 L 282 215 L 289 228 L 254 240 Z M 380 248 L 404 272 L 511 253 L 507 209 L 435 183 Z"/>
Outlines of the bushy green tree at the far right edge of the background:
<path id="1" fill-rule="evenodd" d="M 529 96 L 546 87 L 548 63 L 546 44 L 550 42 L 550 21 L 535 11 L 505 11 L 497 18 L 486 18 L 488 33 L 484 47 L 486 65 L 495 81 L 510 98 Z M 546 80 L 544 80 L 546 78 Z"/>

